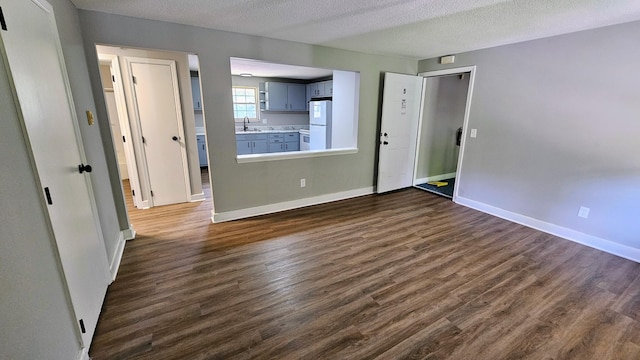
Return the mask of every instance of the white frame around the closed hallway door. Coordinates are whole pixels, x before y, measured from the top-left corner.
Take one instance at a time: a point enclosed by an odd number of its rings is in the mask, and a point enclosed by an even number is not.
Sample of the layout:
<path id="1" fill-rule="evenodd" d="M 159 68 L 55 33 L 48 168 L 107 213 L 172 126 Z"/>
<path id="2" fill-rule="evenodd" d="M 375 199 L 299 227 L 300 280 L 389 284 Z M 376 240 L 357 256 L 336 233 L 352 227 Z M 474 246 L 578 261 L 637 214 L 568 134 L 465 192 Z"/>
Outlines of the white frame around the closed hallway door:
<path id="1" fill-rule="evenodd" d="M 127 67 L 127 72 L 130 76 L 132 75 L 132 63 L 142 63 L 142 64 L 155 64 L 155 65 L 168 65 L 171 68 L 171 81 L 172 81 L 172 85 L 173 85 L 173 97 L 174 97 L 174 102 L 175 102 L 175 109 L 176 109 L 176 122 L 177 122 L 177 126 L 178 126 L 178 136 L 180 139 L 182 139 L 182 141 L 186 140 L 185 134 L 184 134 L 184 120 L 182 118 L 182 101 L 180 100 L 180 87 L 178 85 L 178 72 L 177 72 L 177 68 L 176 68 L 176 62 L 174 60 L 165 60 L 165 59 L 152 59 L 152 58 L 143 58 L 143 57 L 135 57 L 135 56 L 124 56 L 123 57 L 124 62 L 126 64 Z M 146 185 L 144 191 L 141 189 L 141 193 L 144 192 L 144 194 L 146 195 L 146 201 L 143 201 L 143 203 L 146 202 L 147 206 L 146 207 L 153 207 L 153 197 L 151 196 L 151 179 L 149 178 L 149 168 L 148 168 L 148 163 L 147 163 L 147 155 L 145 152 L 145 148 L 142 145 L 142 141 L 140 141 L 140 139 L 142 138 L 142 124 L 140 121 L 140 113 L 138 110 L 138 100 L 136 97 L 136 91 L 135 91 L 135 83 L 133 81 L 129 81 L 129 87 L 130 87 L 130 91 L 131 91 L 131 98 L 133 99 L 133 103 L 131 104 L 131 108 L 133 109 L 133 122 L 131 122 L 133 125 L 132 129 L 134 129 L 134 132 L 137 133 L 137 137 L 136 138 L 132 138 L 133 139 L 133 143 L 136 144 L 137 148 L 138 148 L 138 153 L 141 154 L 141 163 L 142 163 L 142 167 L 143 167 L 143 171 L 140 173 L 138 172 L 138 176 L 140 178 L 142 178 L 142 183 L 144 183 L 144 185 Z M 189 162 L 187 159 L 187 150 L 186 150 L 186 146 L 180 146 L 180 155 L 182 158 L 182 175 L 184 177 L 184 182 L 185 182 L 185 192 L 186 192 L 186 199 L 187 202 L 191 201 L 191 179 L 189 177 Z M 142 175 L 142 176 L 141 176 Z"/>

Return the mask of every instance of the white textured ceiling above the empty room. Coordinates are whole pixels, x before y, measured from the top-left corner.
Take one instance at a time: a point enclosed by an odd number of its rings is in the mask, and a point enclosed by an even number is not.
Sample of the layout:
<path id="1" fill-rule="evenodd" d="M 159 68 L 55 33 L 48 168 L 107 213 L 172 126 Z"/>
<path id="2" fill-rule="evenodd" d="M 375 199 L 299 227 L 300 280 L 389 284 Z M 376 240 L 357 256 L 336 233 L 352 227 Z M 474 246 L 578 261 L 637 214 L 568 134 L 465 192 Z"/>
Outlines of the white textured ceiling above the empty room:
<path id="1" fill-rule="evenodd" d="M 416 59 L 640 20 L 640 0 L 71 0 L 78 8 Z"/>

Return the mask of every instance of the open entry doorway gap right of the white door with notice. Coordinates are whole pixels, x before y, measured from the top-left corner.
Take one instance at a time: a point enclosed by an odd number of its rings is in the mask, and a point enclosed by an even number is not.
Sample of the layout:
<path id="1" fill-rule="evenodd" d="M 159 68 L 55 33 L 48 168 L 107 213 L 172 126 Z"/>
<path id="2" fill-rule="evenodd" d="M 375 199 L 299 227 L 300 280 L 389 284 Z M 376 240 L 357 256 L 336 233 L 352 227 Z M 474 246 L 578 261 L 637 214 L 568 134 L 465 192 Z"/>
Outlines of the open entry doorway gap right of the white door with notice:
<path id="1" fill-rule="evenodd" d="M 424 78 L 413 186 L 453 198 L 470 72 Z"/>

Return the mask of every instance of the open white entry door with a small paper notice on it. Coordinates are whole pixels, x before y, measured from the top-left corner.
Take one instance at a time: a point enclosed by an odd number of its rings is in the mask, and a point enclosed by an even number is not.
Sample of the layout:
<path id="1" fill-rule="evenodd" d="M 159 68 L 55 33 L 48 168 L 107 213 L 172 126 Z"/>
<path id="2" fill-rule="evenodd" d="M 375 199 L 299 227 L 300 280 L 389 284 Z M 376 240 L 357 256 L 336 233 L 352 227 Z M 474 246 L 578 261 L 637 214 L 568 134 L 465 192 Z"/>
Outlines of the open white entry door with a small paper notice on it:
<path id="1" fill-rule="evenodd" d="M 385 73 L 377 192 L 413 184 L 423 78 Z"/>

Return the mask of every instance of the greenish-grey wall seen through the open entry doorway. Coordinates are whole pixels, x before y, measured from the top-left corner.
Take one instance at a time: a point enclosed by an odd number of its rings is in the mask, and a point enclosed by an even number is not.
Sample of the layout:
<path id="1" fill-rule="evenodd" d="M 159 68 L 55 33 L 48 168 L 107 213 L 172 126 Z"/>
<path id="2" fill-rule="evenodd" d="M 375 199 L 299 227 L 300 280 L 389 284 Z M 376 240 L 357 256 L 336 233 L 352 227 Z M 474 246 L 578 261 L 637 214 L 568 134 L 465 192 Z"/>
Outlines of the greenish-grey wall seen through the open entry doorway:
<path id="1" fill-rule="evenodd" d="M 460 147 L 458 128 L 464 124 L 469 74 L 427 78 L 424 91 L 422 129 L 418 142 L 415 178 L 455 173 Z"/>

